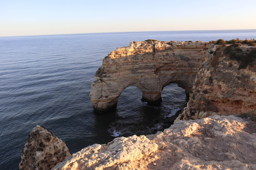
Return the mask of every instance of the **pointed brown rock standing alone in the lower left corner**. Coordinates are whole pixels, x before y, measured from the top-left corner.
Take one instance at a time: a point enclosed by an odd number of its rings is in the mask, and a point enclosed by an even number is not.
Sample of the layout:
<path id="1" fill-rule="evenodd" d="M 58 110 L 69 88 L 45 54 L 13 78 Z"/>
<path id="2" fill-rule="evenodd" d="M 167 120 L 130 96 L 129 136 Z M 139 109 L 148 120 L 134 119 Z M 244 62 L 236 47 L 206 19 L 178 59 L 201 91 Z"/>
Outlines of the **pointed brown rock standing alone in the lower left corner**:
<path id="1" fill-rule="evenodd" d="M 70 156 L 62 140 L 37 125 L 28 135 L 19 167 L 21 170 L 47 170 Z"/>

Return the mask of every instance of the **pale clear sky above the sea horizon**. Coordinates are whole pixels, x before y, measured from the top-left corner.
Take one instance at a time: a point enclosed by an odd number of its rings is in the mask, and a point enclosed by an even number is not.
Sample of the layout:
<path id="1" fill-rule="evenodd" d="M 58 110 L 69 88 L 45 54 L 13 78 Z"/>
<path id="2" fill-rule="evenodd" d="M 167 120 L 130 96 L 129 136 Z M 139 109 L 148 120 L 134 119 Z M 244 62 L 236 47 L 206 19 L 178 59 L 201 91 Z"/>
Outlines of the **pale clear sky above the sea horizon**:
<path id="1" fill-rule="evenodd" d="M 0 37 L 256 29 L 256 0 L 0 0 Z"/>

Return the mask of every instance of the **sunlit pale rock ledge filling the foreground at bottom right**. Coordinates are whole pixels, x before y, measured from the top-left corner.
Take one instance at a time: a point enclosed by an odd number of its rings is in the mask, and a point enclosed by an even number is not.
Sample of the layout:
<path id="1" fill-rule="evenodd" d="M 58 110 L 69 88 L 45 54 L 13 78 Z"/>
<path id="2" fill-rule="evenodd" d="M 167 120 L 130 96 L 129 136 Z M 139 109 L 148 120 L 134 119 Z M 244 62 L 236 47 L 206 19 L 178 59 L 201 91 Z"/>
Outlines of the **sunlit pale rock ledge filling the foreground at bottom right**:
<path id="1" fill-rule="evenodd" d="M 256 169 L 255 127 L 234 115 L 178 121 L 147 137 L 88 146 L 53 169 Z"/>

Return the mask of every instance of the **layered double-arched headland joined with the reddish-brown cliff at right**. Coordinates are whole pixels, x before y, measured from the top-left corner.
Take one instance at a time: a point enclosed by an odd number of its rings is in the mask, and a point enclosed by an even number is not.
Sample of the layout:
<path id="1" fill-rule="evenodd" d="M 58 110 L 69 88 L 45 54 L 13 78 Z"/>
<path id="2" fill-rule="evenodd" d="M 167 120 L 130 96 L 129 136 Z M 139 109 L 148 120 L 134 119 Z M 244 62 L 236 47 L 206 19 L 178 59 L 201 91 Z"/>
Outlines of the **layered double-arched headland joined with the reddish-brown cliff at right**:
<path id="1" fill-rule="evenodd" d="M 154 41 L 131 42 L 129 47 L 117 48 L 96 71 L 90 93 L 94 110 L 103 112 L 115 107 L 122 91 L 130 85 L 142 91 L 142 99 L 148 104 L 158 103 L 164 86 L 177 83 L 188 96 L 190 93 L 187 107 L 177 120 L 256 111 L 256 63 L 246 56 L 254 51 L 255 57 L 256 49 L 230 48 L 251 61 L 240 68 L 243 61 L 231 59 L 224 52 L 227 47 Z"/>

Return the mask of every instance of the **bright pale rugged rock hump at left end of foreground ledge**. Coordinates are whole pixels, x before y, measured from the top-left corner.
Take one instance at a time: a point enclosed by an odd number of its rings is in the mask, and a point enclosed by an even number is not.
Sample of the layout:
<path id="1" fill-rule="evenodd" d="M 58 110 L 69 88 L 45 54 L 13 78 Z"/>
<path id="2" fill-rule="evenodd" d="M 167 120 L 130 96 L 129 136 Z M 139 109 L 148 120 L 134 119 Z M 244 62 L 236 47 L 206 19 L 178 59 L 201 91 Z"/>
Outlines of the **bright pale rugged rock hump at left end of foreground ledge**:
<path id="1" fill-rule="evenodd" d="M 72 156 L 57 164 L 54 170 L 67 169 L 89 169 L 102 170 L 123 164 L 126 162 L 133 162 L 158 149 L 155 142 L 151 142 L 146 136 L 130 136 L 128 138 L 115 138 L 108 144 L 93 144 L 82 149 L 79 152 L 72 154 Z"/>

